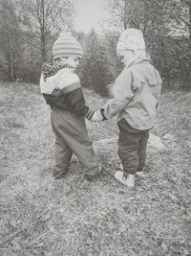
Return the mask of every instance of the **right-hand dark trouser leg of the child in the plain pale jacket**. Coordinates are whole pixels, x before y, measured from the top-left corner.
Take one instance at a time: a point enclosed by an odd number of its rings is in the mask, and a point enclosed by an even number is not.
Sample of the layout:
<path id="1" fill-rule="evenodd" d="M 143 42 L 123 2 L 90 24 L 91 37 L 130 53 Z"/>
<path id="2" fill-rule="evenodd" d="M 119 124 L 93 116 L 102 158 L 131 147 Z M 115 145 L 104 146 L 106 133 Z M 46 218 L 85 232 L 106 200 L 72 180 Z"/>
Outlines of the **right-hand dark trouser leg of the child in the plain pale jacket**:
<path id="1" fill-rule="evenodd" d="M 138 172 L 142 172 L 146 159 L 146 145 L 149 139 L 149 131 L 142 133 L 142 137 L 138 144 Z"/>

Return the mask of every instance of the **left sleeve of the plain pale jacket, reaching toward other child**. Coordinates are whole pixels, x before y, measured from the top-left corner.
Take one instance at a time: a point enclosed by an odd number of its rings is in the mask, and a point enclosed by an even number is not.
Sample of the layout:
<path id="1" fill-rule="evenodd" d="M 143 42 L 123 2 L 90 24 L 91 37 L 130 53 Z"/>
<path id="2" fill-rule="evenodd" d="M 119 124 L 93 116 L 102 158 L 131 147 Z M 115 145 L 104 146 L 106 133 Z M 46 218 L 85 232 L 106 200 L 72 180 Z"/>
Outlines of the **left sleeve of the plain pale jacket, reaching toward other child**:
<path id="1" fill-rule="evenodd" d="M 100 108 L 101 114 L 105 119 L 111 119 L 117 115 L 134 96 L 132 92 L 132 74 L 123 70 L 115 81 L 113 92 L 114 98 L 109 100 Z"/>

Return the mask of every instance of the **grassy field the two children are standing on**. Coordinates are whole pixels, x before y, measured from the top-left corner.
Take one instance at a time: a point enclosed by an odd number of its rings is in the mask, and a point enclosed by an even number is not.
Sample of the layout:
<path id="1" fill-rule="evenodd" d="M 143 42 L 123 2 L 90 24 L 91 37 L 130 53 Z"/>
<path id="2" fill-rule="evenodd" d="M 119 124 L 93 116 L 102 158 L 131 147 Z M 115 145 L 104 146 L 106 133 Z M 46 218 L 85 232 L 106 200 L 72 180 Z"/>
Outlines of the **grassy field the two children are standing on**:
<path id="1" fill-rule="evenodd" d="M 104 100 L 85 91 L 96 109 Z M 145 177 L 93 183 L 79 165 L 54 180 L 50 108 L 31 84 L 0 84 L 0 255 L 191 255 L 191 93 L 162 96 L 153 133 L 168 151 L 148 150 Z M 100 162 L 117 170 L 116 120 L 87 122 Z"/>

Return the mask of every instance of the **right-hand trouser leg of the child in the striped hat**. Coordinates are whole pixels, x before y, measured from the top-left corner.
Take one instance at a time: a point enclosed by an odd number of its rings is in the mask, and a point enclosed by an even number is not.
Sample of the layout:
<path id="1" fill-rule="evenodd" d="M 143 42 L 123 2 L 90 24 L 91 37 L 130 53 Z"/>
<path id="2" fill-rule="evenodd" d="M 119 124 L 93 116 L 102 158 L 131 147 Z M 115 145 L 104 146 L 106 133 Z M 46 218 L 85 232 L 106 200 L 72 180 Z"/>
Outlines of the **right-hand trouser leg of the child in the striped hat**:
<path id="1" fill-rule="evenodd" d="M 100 168 L 84 118 L 74 115 L 71 111 L 57 110 L 53 119 L 59 122 L 58 128 L 61 137 L 76 155 L 85 170 L 85 176 L 90 180 L 96 177 L 100 173 Z"/>

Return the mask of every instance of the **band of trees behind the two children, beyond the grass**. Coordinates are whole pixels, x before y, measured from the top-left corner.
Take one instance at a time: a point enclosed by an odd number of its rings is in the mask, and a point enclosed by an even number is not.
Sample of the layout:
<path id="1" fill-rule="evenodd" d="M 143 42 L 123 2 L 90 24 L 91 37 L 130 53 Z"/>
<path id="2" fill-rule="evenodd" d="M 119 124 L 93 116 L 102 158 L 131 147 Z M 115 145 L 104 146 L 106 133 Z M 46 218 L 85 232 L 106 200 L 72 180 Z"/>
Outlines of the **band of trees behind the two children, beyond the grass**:
<path id="1" fill-rule="evenodd" d="M 83 47 L 77 70 L 82 85 L 106 95 L 122 69 L 117 38 L 134 27 L 164 87 L 191 89 L 191 0 L 110 0 L 105 8 L 102 33 L 85 35 L 73 30 L 73 1 L 0 0 L 0 80 L 38 82 L 41 63 L 52 58 L 53 41 L 66 29 Z"/>

